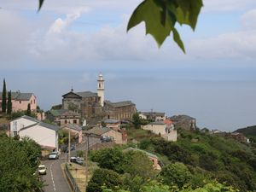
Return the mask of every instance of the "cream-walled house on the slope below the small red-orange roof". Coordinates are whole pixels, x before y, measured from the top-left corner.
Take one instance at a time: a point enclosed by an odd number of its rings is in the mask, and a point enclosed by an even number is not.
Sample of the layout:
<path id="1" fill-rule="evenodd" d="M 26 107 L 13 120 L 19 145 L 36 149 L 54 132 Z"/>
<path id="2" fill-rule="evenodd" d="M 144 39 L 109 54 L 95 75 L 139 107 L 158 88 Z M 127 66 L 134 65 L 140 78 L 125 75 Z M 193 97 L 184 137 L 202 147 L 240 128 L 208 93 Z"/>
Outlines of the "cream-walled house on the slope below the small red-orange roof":
<path id="1" fill-rule="evenodd" d="M 152 131 L 154 134 L 163 137 L 167 141 L 177 141 L 177 130 L 174 129 L 172 123 L 169 122 L 157 121 L 151 122 L 148 125 L 143 125 L 143 130 Z"/>

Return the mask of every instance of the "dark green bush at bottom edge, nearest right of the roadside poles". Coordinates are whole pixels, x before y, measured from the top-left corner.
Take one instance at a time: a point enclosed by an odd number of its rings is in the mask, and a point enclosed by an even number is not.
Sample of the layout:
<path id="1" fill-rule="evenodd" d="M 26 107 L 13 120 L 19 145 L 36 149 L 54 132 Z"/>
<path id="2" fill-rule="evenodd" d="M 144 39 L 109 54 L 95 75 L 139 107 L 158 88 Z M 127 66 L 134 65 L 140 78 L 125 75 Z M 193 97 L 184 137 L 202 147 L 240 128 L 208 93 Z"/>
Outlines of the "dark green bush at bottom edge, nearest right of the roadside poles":
<path id="1" fill-rule="evenodd" d="M 97 169 L 87 185 L 87 192 L 102 192 L 102 186 L 108 189 L 116 189 L 122 185 L 122 178 L 117 172 L 108 169 Z"/>

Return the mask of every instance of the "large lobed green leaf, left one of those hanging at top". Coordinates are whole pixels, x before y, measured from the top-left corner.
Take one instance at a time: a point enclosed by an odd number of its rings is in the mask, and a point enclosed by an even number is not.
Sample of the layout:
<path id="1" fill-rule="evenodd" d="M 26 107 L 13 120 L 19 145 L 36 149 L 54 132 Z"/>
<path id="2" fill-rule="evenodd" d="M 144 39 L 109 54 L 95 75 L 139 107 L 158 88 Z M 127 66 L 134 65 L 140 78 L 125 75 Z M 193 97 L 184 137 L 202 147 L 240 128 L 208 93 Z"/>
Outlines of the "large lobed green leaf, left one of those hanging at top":
<path id="1" fill-rule="evenodd" d="M 172 31 L 170 20 L 166 20 L 169 17 L 166 17 L 164 13 L 163 9 L 155 4 L 153 0 L 145 0 L 138 5 L 137 9 L 135 9 L 131 15 L 127 31 L 144 21 L 146 25 L 146 34 L 152 35 L 160 46 Z"/>

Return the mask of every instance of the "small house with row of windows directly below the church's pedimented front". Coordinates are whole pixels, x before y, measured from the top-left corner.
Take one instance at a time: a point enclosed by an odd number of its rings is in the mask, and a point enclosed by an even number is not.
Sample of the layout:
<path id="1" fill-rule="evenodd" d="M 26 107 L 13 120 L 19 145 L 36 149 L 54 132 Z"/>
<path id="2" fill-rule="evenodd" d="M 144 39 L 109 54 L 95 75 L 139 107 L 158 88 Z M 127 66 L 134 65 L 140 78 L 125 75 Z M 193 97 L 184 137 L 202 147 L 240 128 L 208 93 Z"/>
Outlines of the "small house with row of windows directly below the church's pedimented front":
<path id="1" fill-rule="evenodd" d="M 47 113 L 47 119 L 54 121 L 57 125 L 79 125 L 80 114 L 68 109 L 51 109 Z"/>

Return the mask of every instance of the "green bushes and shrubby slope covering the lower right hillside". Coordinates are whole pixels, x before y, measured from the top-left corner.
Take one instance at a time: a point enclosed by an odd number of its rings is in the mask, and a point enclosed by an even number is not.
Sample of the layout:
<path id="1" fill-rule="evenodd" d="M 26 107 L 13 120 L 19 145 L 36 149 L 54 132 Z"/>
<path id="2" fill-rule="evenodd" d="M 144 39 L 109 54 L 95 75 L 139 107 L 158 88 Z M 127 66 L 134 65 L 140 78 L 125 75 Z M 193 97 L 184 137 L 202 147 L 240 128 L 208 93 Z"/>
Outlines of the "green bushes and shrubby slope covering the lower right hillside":
<path id="1" fill-rule="evenodd" d="M 253 145 L 207 132 L 178 132 L 177 143 L 172 143 L 148 132 L 143 137 L 139 129 L 128 131 L 138 148 L 160 157 L 164 164 L 160 172 L 153 171 L 151 162 L 138 152 L 111 148 L 92 153 L 91 160 L 101 169 L 92 177 L 89 191 L 256 191 Z"/>

